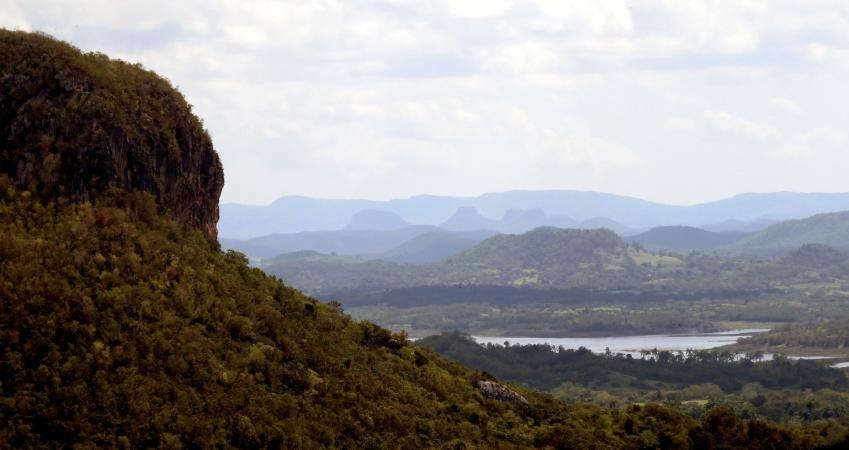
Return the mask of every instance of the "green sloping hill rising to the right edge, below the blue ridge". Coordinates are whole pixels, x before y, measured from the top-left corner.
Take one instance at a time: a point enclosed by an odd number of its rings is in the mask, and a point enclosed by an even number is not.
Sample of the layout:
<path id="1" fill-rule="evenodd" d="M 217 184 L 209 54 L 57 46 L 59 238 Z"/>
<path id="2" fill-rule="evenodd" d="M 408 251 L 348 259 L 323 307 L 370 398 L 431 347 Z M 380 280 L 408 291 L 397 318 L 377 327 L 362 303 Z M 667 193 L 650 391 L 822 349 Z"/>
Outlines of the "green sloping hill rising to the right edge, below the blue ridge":
<path id="1" fill-rule="evenodd" d="M 726 250 L 744 255 L 779 255 L 805 244 L 849 250 L 849 212 L 780 222 L 729 245 Z"/>

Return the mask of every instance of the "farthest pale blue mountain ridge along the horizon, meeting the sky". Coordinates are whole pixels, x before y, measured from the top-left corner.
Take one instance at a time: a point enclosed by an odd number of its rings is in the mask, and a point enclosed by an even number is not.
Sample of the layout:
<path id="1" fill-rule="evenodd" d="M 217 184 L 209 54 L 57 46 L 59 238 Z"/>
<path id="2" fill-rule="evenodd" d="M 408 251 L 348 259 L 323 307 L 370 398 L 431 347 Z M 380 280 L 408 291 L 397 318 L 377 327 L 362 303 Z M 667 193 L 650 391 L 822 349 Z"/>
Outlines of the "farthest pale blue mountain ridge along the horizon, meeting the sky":
<path id="1" fill-rule="evenodd" d="M 461 210 L 462 220 L 454 220 L 452 216 L 458 209 L 466 207 L 474 208 L 480 217 L 473 217 L 471 210 Z M 406 223 L 420 225 L 449 222 L 453 226 L 474 218 L 481 223 L 495 221 L 507 226 L 518 217 L 538 215 L 535 210 L 541 210 L 547 222 L 535 223 L 537 226 L 563 226 L 557 221 L 567 219 L 584 222 L 605 218 L 634 230 L 664 225 L 709 225 L 706 228 L 711 231 L 753 231 L 752 228 L 768 223 L 765 221 L 849 210 L 849 193 L 740 194 L 690 206 L 585 191 L 508 191 L 478 197 L 420 195 L 388 201 L 282 197 L 263 206 L 222 204 L 218 228 L 222 237 L 242 239 L 273 233 L 338 230 L 351 224 L 351 218 L 365 210 L 393 213 Z M 510 210 L 524 213 L 517 217 Z"/>

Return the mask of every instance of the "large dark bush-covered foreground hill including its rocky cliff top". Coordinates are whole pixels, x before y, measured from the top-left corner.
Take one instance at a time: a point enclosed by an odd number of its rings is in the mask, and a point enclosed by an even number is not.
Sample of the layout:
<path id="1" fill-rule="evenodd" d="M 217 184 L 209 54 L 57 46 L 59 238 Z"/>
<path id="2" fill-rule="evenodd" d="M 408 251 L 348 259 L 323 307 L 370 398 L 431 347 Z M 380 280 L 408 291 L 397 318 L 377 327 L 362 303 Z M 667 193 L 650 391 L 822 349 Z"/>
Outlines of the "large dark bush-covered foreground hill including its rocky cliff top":
<path id="1" fill-rule="evenodd" d="M 724 410 L 696 421 L 661 406 L 569 406 L 353 322 L 338 305 L 218 250 L 205 221 L 212 210 L 198 221 L 181 212 L 217 203 L 220 185 L 202 180 L 221 180 L 220 166 L 170 173 L 158 157 L 133 165 L 147 147 L 109 146 L 124 142 L 119 131 L 138 142 L 173 138 L 173 161 L 194 161 L 194 141 L 151 126 L 147 108 L 122 100 L 140 79 L 167 83 L 43 35 L 0 31 L 0 54 L 14 55 L 0 59 L 4 86 L 21 89 L 0 91 L 4 114 L 19 94 L 36 99 L 20 109 L 38 112 L 2 122 L 4 161 L 16 161 L 0 166 L 2 448 L 811 448 L 845 440 L 835 424 L 778 426 Z M 93 84 L 68 82 L 68 101 L 35 95 L 60 74 L 98 73 L 120 83 L 87 96 Z M 175 95 L 144 98 L 163 123 L 173 115 L 199 124 Z M 83 144 L 101 136 L 115 153 L 63 141 L 71 134 L 54 128 L 62 117 L 93 139 Z M 45 158 L 34 153 L 38 142 L 52 149 Z M 114 154 L 125 158 L 96 161 Z M 117 164 L 124 160 L 134 168 Z M 79 187 L 81 174 L 68 172 L 91 167 L 103 186 Z M 163 173 L 175 191 L 159 190 Z M 86 192 L 98 195 L 77 195 Z"/>

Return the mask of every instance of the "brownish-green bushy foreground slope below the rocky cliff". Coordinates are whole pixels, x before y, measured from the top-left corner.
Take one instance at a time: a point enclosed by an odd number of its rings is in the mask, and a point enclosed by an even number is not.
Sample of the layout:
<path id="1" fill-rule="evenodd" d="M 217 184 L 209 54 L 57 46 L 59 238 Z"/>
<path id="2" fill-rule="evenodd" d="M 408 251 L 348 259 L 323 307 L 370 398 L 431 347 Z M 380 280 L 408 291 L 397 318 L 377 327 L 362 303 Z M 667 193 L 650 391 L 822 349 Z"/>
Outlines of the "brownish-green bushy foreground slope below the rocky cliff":
<path id="1" fill-rule="evenodd" d="M 487 399 L 173 221 L 0 188 L 0 446 L 523 446 L 566 417 Z M 508 436 L 517 419 L 542 422 Z"/>

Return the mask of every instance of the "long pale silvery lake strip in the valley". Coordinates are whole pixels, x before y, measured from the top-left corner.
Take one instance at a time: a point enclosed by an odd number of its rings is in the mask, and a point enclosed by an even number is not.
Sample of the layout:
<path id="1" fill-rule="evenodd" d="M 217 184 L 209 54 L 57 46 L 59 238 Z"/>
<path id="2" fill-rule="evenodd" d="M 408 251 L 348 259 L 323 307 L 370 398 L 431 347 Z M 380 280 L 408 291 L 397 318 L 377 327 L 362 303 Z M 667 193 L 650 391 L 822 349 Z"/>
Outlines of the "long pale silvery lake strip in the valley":
<path id="1" fill-rule="evenodd" d="M 707 350 L 733 344 L 737 339 L 750 337 L 754 333 L 769 331 L 762 328 L 723 331 L 703 334 L 650 334 L 644 336 L 586 337 L 586 338 L 533 338 L 533 337 L 491 337 L 472 336 L 480 344 L 548 344 L 566 349 L 585 347 L 593 353 L 604 353 L 609 348 L 613 353 L 630 353 L 639 357 L 640 350 Z"/>

